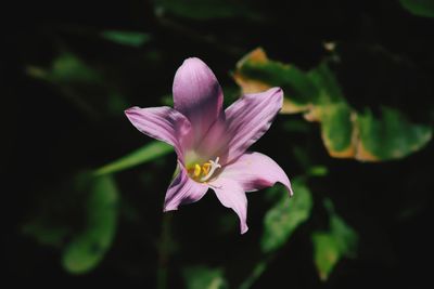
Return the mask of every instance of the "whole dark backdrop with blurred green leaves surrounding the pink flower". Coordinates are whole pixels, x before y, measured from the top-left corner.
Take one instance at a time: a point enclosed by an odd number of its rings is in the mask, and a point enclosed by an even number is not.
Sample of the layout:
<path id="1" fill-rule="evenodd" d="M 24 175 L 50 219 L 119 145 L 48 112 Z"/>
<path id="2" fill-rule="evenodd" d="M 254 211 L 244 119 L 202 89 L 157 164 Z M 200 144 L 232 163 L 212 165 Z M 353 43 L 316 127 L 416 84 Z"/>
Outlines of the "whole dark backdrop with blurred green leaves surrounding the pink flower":
<path id="1" fill-rule="evenodd" d="M 433 1 L 76 0 L 2 10 L 11 16 L 0 67 L 4 281 L 431 284 Z M 124 115 L 171 105 L 189 56 L 212 67 L 226 105 L 267 87 L 285 92 L 283 114 L 252 149 L 281 165 L 295 196 L 280 185 L 248 194 L 244 235 L 212 192 L 163 213 L 176 156 Z"/>

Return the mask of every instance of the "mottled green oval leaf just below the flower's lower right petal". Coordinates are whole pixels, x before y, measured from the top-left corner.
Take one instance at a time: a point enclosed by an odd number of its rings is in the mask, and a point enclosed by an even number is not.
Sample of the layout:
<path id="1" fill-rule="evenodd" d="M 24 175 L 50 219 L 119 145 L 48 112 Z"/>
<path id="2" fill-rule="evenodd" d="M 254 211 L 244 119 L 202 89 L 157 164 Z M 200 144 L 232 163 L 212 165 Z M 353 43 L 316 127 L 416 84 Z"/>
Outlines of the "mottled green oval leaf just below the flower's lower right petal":
<path id="1" fill-rule="evenodd" d="M 294 196 L 280 187 L 281 198 L 264 219 L 264 235 L 260 246 L 264 252 L 270 252 L 282 247 L 292 233 L 310 215 L 312 197 L 301 180 L 292 184 Z"/>

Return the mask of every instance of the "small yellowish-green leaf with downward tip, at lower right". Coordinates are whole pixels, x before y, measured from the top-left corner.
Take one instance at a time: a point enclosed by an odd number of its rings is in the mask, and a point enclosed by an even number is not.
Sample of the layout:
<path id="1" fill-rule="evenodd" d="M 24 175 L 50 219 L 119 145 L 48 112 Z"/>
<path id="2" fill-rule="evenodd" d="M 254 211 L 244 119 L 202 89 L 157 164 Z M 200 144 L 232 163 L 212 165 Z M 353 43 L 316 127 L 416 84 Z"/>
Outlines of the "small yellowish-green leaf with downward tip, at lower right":
<path id="1" fill-rule="evenodd" d="M 334 212 L 331 200 L 326 200 L 329 211 L 330 231 L 312 234 L 314 261 L 321 280 L 327 280 L 334 266 L 343 258 L 355 258 L 358 235 Z"/>

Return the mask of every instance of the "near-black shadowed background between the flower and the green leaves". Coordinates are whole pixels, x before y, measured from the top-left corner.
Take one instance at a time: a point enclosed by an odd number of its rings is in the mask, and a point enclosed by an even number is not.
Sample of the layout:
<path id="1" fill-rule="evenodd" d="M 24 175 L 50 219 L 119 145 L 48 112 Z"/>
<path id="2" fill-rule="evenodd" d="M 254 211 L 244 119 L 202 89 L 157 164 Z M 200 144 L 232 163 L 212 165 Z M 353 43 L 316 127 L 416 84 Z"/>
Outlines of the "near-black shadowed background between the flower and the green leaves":
<path id="1" fill-rule="evenodd" d="M 241 2 L 241 1 L 240 1 Z M 162 105 L 176 69 L 199 56 L 224 88 L 237 91 L 230 71 L 244 54 L 263 47 L 269 56 L 309 69 L 327 55 L 324 41 L 339 43 L 339 79 L 356 108 L 391 105 L 413 121 L 433 120 L 434 19 L 411 15 L 398 1 L 251 1 L 255 17 L 197 19 L 162 13 L 152 1 L 27 1 L 2 8 L 2 275 L 14 285 L 156 286 L 161 203 L 175 156 L 116 175 L 123 207 L 115 241 L 92 272 L 75 276 L 60 265 L 59 248 L 40 246 L 22 233 L 68 175 L 100 167 L 145 144 L 123 115 L 132 105 Z M 130 48 L 98 37 L 107 29 L 142 31 L 150 42 Z M 62 90 L 29 76 L 29 65 L 49 67 L 61 51 L 79 55 L 122 93 L 107 109 L 103 93 L 85 95 L 80 110 Z M 100 95 L 101 94 L 101 95 Z M 93 97 L 94 96 L 94 97 Z M 232 98 L 233 100 L 233 98 Z M 227 101 L 231 102 L 227 95 Z M 318 126 L 282 137 L 279 116 L 254 150 L 277 160 L 290 178 L 303 173 L 292 147 L 305 147 L 329 175 L 311 181 L 312 216 L 299 227 L 253 288 L 422 288 L 431 284 L 434 192 L 432 142 L 403 159 L 381 163 L 332 159 Z M 152 172 L 152 174 L 150 173 Z M 150 175 L 151 174 L 151 175 Z M 320 200 L 330 197 L 359 234 L 358 257 L 344 259 L 327 283 L 317 277 L 308 236 L 324 225 Z M 175 252 L 169 288 L 183 288 L 189 264 L 224 266 L 231 285 L 253 267 L 267 210 L 261 193 L 248 195 L 250 232 L 221 233 L 218 218 L 237 222 L 208 194 L 173 214 Z M 267 203 L 269 206 L 269 203 Z M 130 213 L 128 213 L 130 212 Z M 131 216 L 131 214 L 133 216 Z M 228 216 L 229 215 L 229 216 Z M 217 232 L 217 233 L 216 233 Z M 232 288 L 232 287 L 231 287 Z M 235 288 L 235 286 L 233 286 Z"/>

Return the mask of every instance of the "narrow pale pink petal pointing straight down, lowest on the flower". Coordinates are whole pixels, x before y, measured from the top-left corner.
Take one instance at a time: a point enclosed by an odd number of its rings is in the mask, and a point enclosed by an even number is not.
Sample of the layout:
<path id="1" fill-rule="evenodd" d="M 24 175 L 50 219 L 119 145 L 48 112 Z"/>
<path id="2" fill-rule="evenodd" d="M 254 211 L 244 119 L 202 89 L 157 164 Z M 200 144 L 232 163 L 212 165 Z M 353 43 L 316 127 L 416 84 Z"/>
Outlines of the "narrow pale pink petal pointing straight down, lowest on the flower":
<path id="1" fill-rule="evenodd" d="M 234 180 L 218 178 L 210 183 L 210 188 L 225 207 L 238 214 L 241 234 L 247 232 L 247 197 L 242 186 Z"/>

